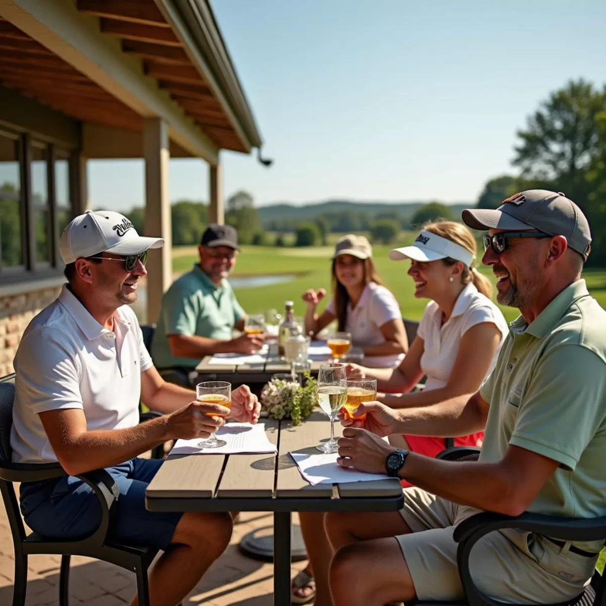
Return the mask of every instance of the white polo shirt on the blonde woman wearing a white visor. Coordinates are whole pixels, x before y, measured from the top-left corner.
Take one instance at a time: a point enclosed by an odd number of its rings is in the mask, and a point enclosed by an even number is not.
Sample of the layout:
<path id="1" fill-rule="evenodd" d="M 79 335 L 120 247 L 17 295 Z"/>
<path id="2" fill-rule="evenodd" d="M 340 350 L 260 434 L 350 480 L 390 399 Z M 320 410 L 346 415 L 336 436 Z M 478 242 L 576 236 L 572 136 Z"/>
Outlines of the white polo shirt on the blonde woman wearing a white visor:
<path id="1" fill-rule="evenodd" d="M 488 376 L 499 357 L 505 336 L 509 333 L 501 310 L 487 296 L 479 293 L 473 284 L 468 284 L 461 291 L 454 304 L 453 313 L 445 324 L 442 324 L 442 310 L 438 304 L 435 301 L 427 304 L 417 330 L 417 335 L 425 343 L 421 356 L 421 368 L 427 375 L 425 391 L 444 387 L 448 383 L 462 336 L 472 326 L 483 322 L 496 325 L 502 335 L 486 373 Z"/>

